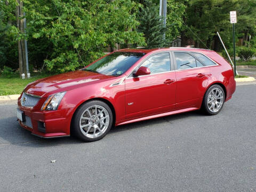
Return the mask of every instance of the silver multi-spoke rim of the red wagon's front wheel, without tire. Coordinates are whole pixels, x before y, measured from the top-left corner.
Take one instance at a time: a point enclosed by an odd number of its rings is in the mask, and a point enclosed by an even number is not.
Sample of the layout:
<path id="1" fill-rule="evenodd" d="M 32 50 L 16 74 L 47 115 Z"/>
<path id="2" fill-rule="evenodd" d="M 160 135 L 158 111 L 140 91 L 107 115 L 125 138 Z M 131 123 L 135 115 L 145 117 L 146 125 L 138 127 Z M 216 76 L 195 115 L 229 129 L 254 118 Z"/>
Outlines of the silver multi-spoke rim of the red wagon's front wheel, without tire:
<path id="1" fill-rule="evenodd" d="M 109 113 L 100 105 L 90 106 L 82 113 L 79 125 L 86 137 L 98 138 L 108 129 Z"/>

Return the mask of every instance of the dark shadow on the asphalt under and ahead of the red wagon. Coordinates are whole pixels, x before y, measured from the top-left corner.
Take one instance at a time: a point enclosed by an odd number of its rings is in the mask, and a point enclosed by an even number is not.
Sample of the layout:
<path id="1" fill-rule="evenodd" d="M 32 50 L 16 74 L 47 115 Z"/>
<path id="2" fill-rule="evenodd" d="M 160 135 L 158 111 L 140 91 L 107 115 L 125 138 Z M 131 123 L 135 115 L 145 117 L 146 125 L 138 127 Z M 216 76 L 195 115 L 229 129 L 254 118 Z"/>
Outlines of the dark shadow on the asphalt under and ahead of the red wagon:
<path id="1" fill-rule="evenodd" d="M 155 119 L 149 119 L 147 121 L 141 121 L 126 125 L 120 125 L 113 127 L 108 134 L 114 134 L 117 132 L 122 132 L 126 130 L 133 130 L 141 127 L 148 126 L 158 126 L 164 122 L 171 123 L 172 121 L 179 119 L 186 119 L 191 117 L 204 116 L 199 111 L 191 111 L 184 114 L 171 115 L 166 117 L 159 117 Z M 70 145 L 83 143 L 82 140 L 76 137 L 66 137 L 66 138 L 39 138 L 35 135 L 32 135 L 28 130 L 23 129 L 17 122 L 16 117 L 9 117 L 0 119 L 0 147 L 19 145 L 19 146 L 28 146 L 29 147 L 51 147 L 58 145 Z"/>

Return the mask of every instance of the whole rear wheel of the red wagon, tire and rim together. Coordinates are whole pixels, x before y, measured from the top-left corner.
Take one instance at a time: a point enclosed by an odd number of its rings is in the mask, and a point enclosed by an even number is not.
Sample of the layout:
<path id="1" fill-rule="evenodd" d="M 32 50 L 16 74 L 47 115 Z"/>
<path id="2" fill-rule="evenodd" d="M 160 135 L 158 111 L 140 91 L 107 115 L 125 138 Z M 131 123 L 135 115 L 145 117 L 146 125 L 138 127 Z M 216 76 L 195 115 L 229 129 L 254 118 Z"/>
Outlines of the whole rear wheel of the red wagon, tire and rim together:
<path id="1" fill-rule="evenodd" d="M 225 92 L 220 85 L 212 85 L 205 93 L 202 109 L 207 115 L 218 114 L 225 101 Z"/>

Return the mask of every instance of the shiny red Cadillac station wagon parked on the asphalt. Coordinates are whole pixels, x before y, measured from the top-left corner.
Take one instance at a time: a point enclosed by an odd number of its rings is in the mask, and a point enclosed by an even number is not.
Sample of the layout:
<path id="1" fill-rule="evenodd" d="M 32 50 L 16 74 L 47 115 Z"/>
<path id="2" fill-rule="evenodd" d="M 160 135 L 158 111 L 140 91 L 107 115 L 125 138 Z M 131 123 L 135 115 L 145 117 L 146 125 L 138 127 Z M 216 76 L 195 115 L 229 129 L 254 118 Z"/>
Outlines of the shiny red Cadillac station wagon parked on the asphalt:
<path id="1" fill-rule="evenodd" d="M 214 51 L 124 49 L 28 84 L 17 117 L 39 137 L 96 141 L 112 126 L 197 109 L 216 115 L 235 89 L 233 68 Z"/>

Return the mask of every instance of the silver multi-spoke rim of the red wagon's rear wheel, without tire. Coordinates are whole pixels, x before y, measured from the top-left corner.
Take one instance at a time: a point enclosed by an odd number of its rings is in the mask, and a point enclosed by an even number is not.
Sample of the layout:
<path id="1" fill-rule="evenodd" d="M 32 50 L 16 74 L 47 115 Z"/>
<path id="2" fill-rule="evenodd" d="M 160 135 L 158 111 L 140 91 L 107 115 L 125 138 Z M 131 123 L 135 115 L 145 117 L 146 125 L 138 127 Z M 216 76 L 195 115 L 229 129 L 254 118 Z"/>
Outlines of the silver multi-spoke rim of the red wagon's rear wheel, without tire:
<path id="1" fill-rule="evenodd" d="M 221 89 L 214 88 L 207 97 L 207 107 L 212 113 L 216 113 L 221 109 L 224 101 L 224 94 Z"/>

